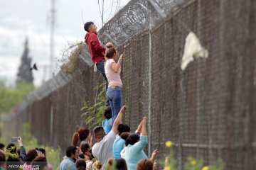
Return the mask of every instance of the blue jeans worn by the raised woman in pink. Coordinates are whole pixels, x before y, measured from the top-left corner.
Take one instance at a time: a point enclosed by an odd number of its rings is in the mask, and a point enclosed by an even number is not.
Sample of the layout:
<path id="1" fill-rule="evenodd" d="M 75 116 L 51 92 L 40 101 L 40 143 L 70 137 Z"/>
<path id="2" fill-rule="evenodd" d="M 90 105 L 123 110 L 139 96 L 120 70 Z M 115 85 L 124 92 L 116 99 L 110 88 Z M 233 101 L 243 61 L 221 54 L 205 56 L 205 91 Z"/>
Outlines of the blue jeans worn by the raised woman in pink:
<path id="1" fill-rule="evenodd" d="M 110 102 L 112 112 L 112 124 L 122 108 L 122 89 L 119 86 L 107 89 L 107 101 Z"/>

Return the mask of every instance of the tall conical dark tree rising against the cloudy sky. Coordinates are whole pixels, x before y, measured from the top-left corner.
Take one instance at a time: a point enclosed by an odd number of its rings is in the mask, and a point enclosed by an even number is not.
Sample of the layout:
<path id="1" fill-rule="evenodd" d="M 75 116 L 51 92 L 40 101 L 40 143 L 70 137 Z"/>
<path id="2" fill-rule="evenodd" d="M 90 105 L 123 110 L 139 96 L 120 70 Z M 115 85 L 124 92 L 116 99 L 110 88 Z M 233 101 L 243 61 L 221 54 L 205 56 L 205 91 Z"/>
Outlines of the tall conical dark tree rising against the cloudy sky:
<path id="1" fill-rule="evenodd" d="M 30 70 L 31 57 L 29 57 L 28 53 L 28 38 L 26 38 L 24 43 L 24 52 L 21 57 L 21 65 L 18 67 L 16 84 L 21 81 L 26 81 L 29 84 L 33 84 L 33 74 Z"/>

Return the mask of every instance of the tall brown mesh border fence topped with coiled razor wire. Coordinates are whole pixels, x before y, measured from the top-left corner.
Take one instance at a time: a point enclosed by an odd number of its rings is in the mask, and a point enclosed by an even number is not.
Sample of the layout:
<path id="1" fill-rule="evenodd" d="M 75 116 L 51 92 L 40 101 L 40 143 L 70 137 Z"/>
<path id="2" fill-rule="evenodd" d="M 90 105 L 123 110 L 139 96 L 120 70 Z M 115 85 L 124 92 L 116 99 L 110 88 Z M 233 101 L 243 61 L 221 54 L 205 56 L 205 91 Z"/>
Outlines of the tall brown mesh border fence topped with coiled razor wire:
<path id="1" fill-rule="evenodd" d="M 124 123 L 137 128 L 149 117 L 148 152 L 174 142 L 178 166 L 189 155 L 226 169 L 256 167 L 256 1 L 130 1 L 101 30 L 102 43 L 125 53 L 122 67 Z M 209 52 L 181 70 L 186 36 L 196 33 Z M 90 54 L 78 69 L 58 74 L 21 103 L 12 119 L 28 121 L 39 142 L 65 149 L 80 118 L 82 101 L 95 103 L 102 82 L 92 71 Z"/>

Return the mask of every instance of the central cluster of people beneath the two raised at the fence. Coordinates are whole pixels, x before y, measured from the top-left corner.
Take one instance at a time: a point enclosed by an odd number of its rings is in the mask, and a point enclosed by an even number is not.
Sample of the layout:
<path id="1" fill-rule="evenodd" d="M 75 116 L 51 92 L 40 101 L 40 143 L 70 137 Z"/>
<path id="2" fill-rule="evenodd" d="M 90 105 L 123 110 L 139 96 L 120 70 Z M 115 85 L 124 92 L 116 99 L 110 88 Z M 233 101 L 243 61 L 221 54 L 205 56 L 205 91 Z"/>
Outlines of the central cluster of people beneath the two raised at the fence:
<path id="1" fill-rule="evenodd" d="M 59 169 L 154 169 L 158 151 L 154 150 L 150 158 L 143 151 L 147 144 L 147 119 L 144 117 L 137 130 L 131 132 L 128 125 L 121 123 L 126 110 L 127 107 L 122 106 L 108 133 L 102 126 L 95 127 L 93 135 L 87 128 L 79 128 L 73 134 L 71 146 L 67 148 Z M 104 115 L 108 112 L 109 107 L 105 109 Z"/>

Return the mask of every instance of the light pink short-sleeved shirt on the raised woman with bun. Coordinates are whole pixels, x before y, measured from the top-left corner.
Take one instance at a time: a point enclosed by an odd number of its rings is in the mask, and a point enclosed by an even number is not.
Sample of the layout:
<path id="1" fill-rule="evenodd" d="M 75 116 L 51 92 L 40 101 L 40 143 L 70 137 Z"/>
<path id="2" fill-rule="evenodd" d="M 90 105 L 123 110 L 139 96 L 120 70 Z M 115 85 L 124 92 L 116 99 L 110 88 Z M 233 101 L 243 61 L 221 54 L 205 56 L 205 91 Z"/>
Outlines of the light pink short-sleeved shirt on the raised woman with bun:
<path id="1" fill-rule="evenodd" d="M 113 69 L 111 69 L 110 65 L 114 62 L 113 59 L 109 59 L 105 62 L 105 74 L 107 77 L 107 81 L 110 86 L 122 86 L 122 81 L 120 77 L 121 68 L 118 70 L 118 72 L 114 72 Z"/>

